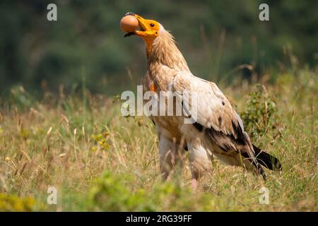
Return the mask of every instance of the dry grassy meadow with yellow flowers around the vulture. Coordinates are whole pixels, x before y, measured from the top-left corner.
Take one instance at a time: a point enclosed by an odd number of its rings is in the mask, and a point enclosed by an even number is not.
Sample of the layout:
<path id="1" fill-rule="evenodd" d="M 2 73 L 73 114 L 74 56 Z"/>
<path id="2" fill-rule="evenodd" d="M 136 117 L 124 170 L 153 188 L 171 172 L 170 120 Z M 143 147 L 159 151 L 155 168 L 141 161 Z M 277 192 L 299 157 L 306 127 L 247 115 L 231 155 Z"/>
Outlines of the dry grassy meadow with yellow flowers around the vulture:
<path id="1" fill-rule="evenodd" d="M 232 97 L 254 143 L 278 157 L 283 172 L 268 180 L 213 160 L 193 194 L 189 163 L 182 177 L 161 182 L 158 138 L 149 119 L 121 117 L 117 97 L 37 101 L 13 88 L 0 108 L 0 210 L 318 210 L 318 76 L 279 74 L 264 86 L 219 85 Z M 48 186 L 57 205 L 47 204 Z M 269 204 L 259 189 L 269 189 Z"/>

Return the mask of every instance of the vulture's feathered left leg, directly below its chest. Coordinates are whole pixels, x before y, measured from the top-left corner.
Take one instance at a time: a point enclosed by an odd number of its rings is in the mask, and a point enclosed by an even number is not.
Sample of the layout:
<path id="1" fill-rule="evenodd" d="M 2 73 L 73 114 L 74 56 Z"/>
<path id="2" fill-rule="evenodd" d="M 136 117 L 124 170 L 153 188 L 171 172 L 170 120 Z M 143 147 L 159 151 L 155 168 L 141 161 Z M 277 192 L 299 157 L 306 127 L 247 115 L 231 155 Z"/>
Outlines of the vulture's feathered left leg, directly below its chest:
<path id="1" fill-rule="evenodd" d="M 171 141 L 164 136 L 159 138 L 159 155 L 160 155 L 160 170 L 163 180 L 166 180 L 172 171 L 181 171 L 182 155 L 184 148 L 180 148 L 179 143 Z"/>

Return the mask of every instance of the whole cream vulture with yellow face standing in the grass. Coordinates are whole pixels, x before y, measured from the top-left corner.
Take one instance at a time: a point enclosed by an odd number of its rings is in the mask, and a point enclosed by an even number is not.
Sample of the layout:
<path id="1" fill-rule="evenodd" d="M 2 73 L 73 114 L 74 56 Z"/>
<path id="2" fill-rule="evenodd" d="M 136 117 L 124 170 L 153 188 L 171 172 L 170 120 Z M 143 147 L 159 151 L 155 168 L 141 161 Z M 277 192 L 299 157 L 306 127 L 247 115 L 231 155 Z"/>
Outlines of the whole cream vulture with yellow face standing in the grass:
<path id="1" fill-rule="evenodd" d="M 192 170 L 192 187 L 196 189 L 204 172 L 211 169 L 213 155 L 228 165 L 237 165 L 266 179 L 261 166 L 271 170 L 281 169 L 276 157 L 253 145 L 244 131 L 242 119 L 215 83 L 194 76 L 174 37 L 155 20 L 146 20 L 135 13 L 140 30 L 126 33 L 125 37 L 138 35 L 146 42 L 147 73 L 142 80 L 143 90 L 155 93 L 190 93 L 182 98 L 182 106 L 196 107 L 193 123 L 184 123 L 181 116 L 151 116 L 158 132 L 160 170 L 163 179 L 182 166 L 184 150 L 189 151 Z M 190 101 L 191 93 L 199 93 L 196 106 Z"/>

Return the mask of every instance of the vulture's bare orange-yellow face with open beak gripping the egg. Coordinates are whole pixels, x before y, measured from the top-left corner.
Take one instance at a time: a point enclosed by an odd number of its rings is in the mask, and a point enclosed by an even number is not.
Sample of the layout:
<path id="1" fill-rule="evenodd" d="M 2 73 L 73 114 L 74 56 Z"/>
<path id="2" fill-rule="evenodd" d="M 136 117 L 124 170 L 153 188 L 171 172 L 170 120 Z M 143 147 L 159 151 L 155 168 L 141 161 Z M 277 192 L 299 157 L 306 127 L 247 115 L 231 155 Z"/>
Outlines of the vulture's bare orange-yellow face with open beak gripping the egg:
<path id="1" fill-rule="evenodd" d="M 142 37 L 143 40 L 145 40 L 147 47 L 151 47 L 151 45 L 153 44 L 153 40 L 155 40 L 155 38 L 159 35 L 160 23 L 155 20 L 146 20 L 136 13 L 126 13 L 125 16 L 127 15 L 135 16 L 137 18 L 140 30 L 129 32 L 125 35 L 125 37 L 130 35 L 138 35 L 139 37 Z"/>

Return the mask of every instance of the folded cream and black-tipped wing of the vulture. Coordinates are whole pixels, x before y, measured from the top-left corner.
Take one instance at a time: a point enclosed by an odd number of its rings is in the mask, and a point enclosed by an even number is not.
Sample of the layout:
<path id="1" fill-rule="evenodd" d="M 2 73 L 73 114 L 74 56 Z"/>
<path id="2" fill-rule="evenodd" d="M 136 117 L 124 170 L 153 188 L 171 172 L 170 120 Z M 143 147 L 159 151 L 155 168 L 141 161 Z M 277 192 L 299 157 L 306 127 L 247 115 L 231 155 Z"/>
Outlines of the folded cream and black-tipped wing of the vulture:
<path id="1" fill-rule="evenodd" d="M 182 107 L 194 118 L 196 129 L 207 133 L 225 153 L 234 151 L 247 158 L 265 177 L 259 165 L 261 162 L 255 157 L 253 145 L 244 131 L 242 119 L 215 83 L 189 72 L 179 72 L 172 83 L 172 90 L 182 94 Z M 272 165 L 271 162 L 265 163 Z"/>

